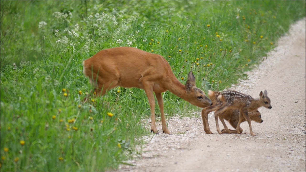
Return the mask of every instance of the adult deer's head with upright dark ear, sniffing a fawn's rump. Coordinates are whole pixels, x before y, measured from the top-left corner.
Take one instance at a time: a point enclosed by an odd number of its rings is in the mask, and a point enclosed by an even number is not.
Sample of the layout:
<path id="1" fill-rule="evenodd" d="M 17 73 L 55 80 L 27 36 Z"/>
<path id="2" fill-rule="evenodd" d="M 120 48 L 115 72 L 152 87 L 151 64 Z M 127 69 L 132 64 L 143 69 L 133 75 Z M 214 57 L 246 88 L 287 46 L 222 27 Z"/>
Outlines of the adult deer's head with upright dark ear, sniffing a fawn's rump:
<path id="1" fill-rule="evenodd" d="M 187 95 L 186 101 L 189 103 L 202 108 L 211 106 L 211 100 L 206 97 L 205 93 L 201 89 L 196 87 L 196 78 L 192 71 L 188 74 L 185 90 Z"/>

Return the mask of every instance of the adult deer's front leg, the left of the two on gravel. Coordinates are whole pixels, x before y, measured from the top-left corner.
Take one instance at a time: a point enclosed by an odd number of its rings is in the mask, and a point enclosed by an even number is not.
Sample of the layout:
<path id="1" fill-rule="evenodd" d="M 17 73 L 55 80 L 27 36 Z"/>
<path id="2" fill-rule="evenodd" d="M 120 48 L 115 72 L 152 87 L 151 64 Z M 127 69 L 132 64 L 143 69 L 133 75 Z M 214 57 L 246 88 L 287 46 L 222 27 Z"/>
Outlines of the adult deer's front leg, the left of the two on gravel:
<path id="1" fill-rule="evenodd" d="M 153 94 L 153 87 L 150 84 L 144 84 L 144 91 L 147 94 L 149 104 L 150 104 L 150 110 L 151 110 L 151 132 L 155 134 L 159 134 L 156 125 L 155 125 L 155 100 L 154 100 L 154 94 Z"/>

